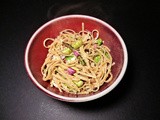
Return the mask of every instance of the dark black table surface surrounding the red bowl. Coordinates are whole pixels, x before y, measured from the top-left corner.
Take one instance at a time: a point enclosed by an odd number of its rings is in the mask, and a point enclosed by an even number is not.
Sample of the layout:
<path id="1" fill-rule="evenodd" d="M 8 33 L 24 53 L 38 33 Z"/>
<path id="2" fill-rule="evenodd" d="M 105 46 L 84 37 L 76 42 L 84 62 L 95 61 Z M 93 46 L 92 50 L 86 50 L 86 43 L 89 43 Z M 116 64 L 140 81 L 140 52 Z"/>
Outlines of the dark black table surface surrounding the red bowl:
<path id="1" fill-rule="evenodd" d="M 24 52 L 47 21 L 86 14 L 113 26 L 129 62 L 120 84 L 104 97 L 66 103 L 42 93 L 28 77 Z M 160 120 L 160 6 L 136 0 L 13 0 L 0 3 L 0 120 Z"/>

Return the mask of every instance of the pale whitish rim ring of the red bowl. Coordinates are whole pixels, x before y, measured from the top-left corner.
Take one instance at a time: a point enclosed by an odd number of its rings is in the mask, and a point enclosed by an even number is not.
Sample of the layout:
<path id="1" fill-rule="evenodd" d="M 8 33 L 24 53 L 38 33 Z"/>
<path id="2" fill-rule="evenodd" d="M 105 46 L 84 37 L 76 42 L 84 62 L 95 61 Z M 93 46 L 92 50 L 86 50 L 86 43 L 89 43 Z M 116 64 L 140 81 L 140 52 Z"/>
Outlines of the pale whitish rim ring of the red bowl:
<path id="1" fill-rule="evenodd" d="M 98 21 L 99 23 L 103 24 L 104 26 L 108 27 L 117 37 L 118 37 L 118 40 L 120 41 L 121 43 L 121 46 L 122 46 L 122 49 L 123 49 L 123 53 L 124 53 L 124 61 L 123 61 L 123 66 L 122 66 L 122 69 L 117 77 L 117 79 L 105 90 L 103 90 L 102 92 L 99 92 L 97 94 L 93 94 L 91 96 L 85 96 L 85 97 L 66 97 L 66 96 L 62 96 L 62 95 L 58 95 L 56 93 L 53 93 L 49 90 L 47 90 L 46 88 L 44 88 L 33 76 L 31 70 L 30 70 L 30 67 L 29 67 L 29 61 L 28 61 L 28 55 L 29 55 L 29 50 L 30 50 L 30 47 L 31 47 L 31 44 L 34 40 L 34 38 L 36 37 L 36 35 L 43 29 L 45 28 L 46 26 L 48 26 L 49 24 L 51 24 L 52 22 L 56 22 L 58 20 L 61 20 L 61 19 L 65 19 L 65 18 L 87 18 L 87 19 L 91 19 L 91 20 L 94 20 L 94 21 Z M 125 72 L 126 72 L 126 69 L 127 69 L 127 64 L 128 64 L 128 52 L 127 52 L 127 48 L 126 48 L 126 45 L 122 39 L 122 37 L 120 36 L 120 34 L 111 26 L 109 25 L 107 22 L 104 22 L 102 21 L 101 19 L 99 18 L 96 18 L 96 17 L 93 17 L 93 16 L 88 16 L 88 15 L 80 15 L 80 14 L 73 14 L 73 15 L 64 15 L 64 16 L 61 16 L 61 17 L 57 17 L 57 18 L 54 18 L 48 22 L 46 22 L 45 24 L 43 24 L 41 27 L 39 27 L 35 33 L 31 36 L 31 38 L 29 39 L 29 42 L 27 44 L 27 47 L 25 49 L 25 56 L 24 56 L 24 64 L 25 64 L 25 68 L 26 68 L 26 71 L 29 75 L 29 77 L 31 78 L 32 82 L 40 89 L 42 90 L 43 92 L 45 92 L 46 94 L 48 94 L 49 96 L 53 97 L 53 98 L 56 98 L 58 100 L 61 100 L 61 101 L 65 101 L 65 102 L 87 102 L 87 101 L 91 101 L 91 100 L 95 100 L 97 98 L 100 98 L 106 94 L 108 94 L 110 91 L 112 91 L 118 84 L 119 82 L 122 80 Z"/>

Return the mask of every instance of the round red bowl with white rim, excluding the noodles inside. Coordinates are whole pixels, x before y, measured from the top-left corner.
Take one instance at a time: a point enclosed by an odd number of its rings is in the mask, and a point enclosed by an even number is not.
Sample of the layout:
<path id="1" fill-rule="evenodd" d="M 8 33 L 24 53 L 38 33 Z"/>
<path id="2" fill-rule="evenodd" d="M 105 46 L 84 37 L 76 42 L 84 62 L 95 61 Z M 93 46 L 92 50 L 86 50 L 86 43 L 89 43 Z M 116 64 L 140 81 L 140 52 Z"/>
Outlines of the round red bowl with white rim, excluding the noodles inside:
<path id="1" fill-rule="evenodd" d="M 57 88 L 50 87 L 49 82 L 42 80 L 41 66 L 46 58 L 48 49 L 44 48 L 44 39 L 56 38 L 64 29 L 81 30 L 82 22 L 85 29 L 97 29 L 104 44 L 111 50 L 115 65 L 112 67 L 113 80 L 104 84 L 100 90 L 88 95 L 75 95 L 59 92 Z M 86 15 L 67 15 L 53 19 L 42 25 L 30 38 L 25 51 L 25 67 L 32 82 L 44 93 L 61 101 L 85 102 L 97 99 L 109 93 L 121 81 L 127 67 L 128 54 L 125 43 L 118 32 L 106 22 Z"/>

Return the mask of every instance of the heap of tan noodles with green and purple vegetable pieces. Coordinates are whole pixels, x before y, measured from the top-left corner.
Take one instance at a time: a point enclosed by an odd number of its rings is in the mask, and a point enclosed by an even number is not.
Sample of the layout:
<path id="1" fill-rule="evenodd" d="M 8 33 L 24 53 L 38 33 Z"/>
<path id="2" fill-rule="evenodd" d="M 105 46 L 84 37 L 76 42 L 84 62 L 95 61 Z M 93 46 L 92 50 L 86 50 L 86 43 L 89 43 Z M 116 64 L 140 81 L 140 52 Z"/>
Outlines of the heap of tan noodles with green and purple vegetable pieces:
<path id="1" fill-rule="evenodd" d="M 52 42 L 51 44 L 48 44 Z M 99 31 L 65 29 L 56 38 L 43 42 L 48 54 L 41 67 L 44 81 L 60 92 L 89 94 L 112 78 L 110 49 L 103 45 Z"/>

